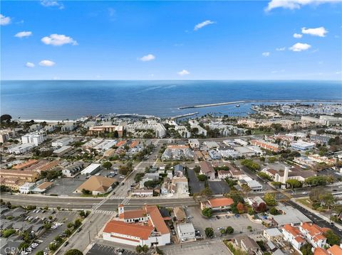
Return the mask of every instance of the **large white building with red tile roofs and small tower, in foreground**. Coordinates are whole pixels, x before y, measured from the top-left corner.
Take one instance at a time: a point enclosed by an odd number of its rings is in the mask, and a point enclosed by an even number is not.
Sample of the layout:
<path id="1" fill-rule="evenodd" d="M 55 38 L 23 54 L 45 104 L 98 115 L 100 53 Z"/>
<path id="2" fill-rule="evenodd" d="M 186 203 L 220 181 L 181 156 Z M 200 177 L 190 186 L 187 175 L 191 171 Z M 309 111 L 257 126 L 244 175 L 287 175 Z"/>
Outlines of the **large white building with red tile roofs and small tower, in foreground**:
<path id="1" fill-rule="evenodd" d="M 103 239 L 131 246 L 163 246 L 170 244 L 170 230 L 156 205 L 144 205 L 140 210 L 118 208 L 119 219 L 110 220 L 103 229 Z"/>

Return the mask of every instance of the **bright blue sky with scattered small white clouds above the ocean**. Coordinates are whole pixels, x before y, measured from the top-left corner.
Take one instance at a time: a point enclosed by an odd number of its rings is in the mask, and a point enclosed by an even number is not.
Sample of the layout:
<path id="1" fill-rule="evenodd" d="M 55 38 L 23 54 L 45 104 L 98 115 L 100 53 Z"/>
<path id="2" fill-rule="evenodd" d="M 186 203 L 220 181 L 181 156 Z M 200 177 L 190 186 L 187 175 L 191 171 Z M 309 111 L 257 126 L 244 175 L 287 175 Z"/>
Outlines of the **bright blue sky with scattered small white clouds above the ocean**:
<path id="1" fill-rule="evenodd" d="M 342 2 L 1 1 L 1 80 L 342 80 Z"/>

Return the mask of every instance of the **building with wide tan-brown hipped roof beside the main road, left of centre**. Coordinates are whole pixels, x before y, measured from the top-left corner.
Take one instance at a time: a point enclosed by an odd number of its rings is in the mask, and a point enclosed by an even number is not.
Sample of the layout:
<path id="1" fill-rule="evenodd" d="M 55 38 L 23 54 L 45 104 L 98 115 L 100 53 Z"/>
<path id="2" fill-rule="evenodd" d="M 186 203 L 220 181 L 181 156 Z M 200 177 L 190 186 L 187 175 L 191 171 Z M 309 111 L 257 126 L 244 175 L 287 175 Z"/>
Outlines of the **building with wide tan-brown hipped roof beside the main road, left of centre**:
<path id="1" fill-rule="evenodd" d="M 113 178 L 107 178 L 103 176 L 91 176 L 76 189 L 76 192 L 89 190 L 93 195 L 105 194 L 113 190 L 114 184 L 115 180 Z"/>

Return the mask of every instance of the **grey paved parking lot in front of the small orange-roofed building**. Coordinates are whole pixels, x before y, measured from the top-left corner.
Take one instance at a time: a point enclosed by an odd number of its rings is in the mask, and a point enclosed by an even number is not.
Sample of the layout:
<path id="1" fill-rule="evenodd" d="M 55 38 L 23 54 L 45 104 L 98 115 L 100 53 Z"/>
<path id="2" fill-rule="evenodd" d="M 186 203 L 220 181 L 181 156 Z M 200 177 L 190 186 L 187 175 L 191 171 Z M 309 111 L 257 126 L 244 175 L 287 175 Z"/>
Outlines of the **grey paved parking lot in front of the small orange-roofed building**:
<path id="1" fill-rule="evenodd" d="M 195 229 L 199 229 L 201 234 L 205 236 L 204 229 L 207 227 L 212 227 L 214 229 L 214 233 L 216 237 L 220 236 L 219 227 L 232 227 L 234 229 L 234 233 L 244 233 L 248 232 L 248 226 L 251 226 L 253 232 L 259 232 L 263 229 L 262 224 L 257 224 L 249 220 L 247 215 L 239 215 L 239 217 L 235 217 L 231 213 L 215 213 L 210 219 L 202 216 L 201 210 L 199 207 L 185 207 L 185 213 L 187 216 L 192 216 L 190 222 L 194 225 Z M 217 218 L 216 216 L 219 216 Z"/>

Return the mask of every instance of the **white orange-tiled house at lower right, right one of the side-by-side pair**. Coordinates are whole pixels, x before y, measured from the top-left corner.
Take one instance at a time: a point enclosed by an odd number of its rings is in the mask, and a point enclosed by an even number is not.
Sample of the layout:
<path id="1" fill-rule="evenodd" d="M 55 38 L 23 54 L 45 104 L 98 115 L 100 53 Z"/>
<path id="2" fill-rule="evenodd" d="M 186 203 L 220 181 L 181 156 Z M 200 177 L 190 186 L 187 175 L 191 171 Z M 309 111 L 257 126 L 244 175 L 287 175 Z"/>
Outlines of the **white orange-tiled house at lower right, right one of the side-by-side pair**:
<path id="1" fill-rule="evenodd" d="M 323 229 L 316 224 L 301 222 L 299 230 L 314 248 L 326 246 L 326 237 L 323 235 Z"/>

